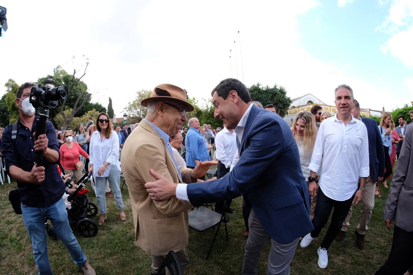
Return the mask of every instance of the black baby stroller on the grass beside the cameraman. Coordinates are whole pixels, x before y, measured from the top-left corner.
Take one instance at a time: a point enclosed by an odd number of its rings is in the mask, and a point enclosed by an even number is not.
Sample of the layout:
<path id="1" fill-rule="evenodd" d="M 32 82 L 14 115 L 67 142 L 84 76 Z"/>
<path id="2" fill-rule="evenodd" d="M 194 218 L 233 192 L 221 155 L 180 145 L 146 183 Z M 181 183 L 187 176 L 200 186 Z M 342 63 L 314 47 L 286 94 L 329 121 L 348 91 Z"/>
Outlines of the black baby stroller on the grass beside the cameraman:
<path id="1" fill-rule="evenodd" d="M 78 195 L 79 190 L 85 186 L 85 182 L 89 180 L 92 176 L 92 172 L 89 174 L 86 172 L 81 179 L 78 181 L 76 191 L 70 194 L 67 200 L 71 202 L 71 209 L 66 209 L 68 214 L 68 219 L 70 224 L 76 223 L 76 229 L 84 237 L 93 237 L 97 234 L 97 223 L 88 219 L 88 217 L 96 216 L 97 206 L 93 202 L 89 201 L 88 195 Z M 73 177 L 73 175 L 72 175 Z M 73 188 L 70 181 L 66 183 L 66 186 Z M 67 192 L 66 192 L 67 193 Z M 45 228 L 47 235 L 52 240 L 57 240 L 57 234 L 51 224 L 49 219 L 45 218 Z"/>

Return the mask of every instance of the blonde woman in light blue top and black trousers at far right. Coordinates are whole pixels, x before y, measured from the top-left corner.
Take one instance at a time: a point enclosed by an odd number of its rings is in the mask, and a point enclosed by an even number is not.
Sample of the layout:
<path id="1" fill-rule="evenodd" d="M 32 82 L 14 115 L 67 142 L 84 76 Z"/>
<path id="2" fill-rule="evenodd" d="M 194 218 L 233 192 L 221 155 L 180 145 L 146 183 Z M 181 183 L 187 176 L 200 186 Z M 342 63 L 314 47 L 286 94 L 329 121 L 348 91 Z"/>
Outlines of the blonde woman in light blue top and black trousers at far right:
<path id="1" fill-rule="evenodd" d="M 379 132 L 382 137 L 383 141 L 383 148 L 385 149 L 385 168 L 386 172 L 383 176 L 383 181 L 385 181 L 393 172 L 392 169 L 392 162 L 390 161 L 390 155 L 392 154 L 392 127 L 390 126 L 390 121 L 392 120 L 392 116 L 387 113 L 382 113 L 382 118 L 380 119 Z M 382 181 L 382 182 L 383 182 Z M 380 195 L 380 182 L 377 181 L 376 183 L 376 193 L 377 197 L 381 197 Z"/>

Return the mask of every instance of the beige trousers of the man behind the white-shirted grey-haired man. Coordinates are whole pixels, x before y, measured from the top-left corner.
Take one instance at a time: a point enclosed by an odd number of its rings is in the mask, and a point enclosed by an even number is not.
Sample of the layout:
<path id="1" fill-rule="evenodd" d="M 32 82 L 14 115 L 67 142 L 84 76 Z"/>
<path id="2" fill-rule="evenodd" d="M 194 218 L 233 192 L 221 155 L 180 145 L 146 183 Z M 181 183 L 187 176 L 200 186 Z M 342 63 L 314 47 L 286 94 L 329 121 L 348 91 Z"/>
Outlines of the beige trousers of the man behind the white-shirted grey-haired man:
<path id="1" fill-rule="evenodd" d="M 358 216 L 358 225 L 357 232 L 360 235 L 364 235 L 368 230 L 368 223 L 371 218 L 371 213 L 373 212 L 374 207 L 374 193 L 376 189 L 376 183 L 373 181 L 373 176 L 370 176 L 366 179 L 366 190 L 363 192 L 363 197 L 361 199 L 361 212 Z M 347 218 L 343 222 L 341 230 L 347 231 L 350 228 L 350 217 L 353 207 L 350 207 Z"/>

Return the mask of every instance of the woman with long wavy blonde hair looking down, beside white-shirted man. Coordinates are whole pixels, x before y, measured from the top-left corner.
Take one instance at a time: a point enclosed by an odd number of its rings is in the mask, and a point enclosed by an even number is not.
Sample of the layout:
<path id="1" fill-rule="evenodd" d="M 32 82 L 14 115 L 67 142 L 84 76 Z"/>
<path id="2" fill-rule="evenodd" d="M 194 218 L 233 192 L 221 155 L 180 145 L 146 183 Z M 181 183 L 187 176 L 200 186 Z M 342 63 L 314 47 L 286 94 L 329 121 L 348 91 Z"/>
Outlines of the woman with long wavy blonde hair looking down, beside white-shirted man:
<path id="1" fill-rule="evenodd" d="M 314 143 L 316 142 L 318 127 L 313 114 L 308 111 L 301 111 L 295 117 L 292 134 L 297 143 L 298 153 L 300 154 L 301 170 L 307 185 L 310 176 L 309 165 L 313 154 Z"/>

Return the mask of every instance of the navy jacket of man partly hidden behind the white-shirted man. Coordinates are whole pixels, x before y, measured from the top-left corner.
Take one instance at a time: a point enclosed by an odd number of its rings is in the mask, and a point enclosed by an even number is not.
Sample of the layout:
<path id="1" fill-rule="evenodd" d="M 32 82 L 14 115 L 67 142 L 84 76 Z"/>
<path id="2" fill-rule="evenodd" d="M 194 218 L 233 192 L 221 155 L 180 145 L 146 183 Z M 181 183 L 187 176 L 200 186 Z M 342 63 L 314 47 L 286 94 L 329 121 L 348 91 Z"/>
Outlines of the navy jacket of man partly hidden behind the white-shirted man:
<path id="1" fill-rule="evenodd" d="M 370 174 L 373 176 L 373 181 L 376 182 L 377 176 L 384 176 L 385 174 L 383 141 L 377 122 L 373 118 L 361 118 L 361 121 L 367 128 Z"/>

